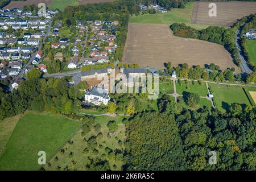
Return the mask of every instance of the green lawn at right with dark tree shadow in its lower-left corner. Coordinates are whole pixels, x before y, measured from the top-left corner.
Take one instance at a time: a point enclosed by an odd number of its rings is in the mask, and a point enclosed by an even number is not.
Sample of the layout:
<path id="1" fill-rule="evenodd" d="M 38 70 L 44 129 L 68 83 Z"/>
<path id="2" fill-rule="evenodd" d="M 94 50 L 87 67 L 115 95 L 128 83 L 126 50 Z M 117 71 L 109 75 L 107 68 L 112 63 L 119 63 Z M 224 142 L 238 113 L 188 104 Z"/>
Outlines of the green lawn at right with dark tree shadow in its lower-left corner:
<path id="1" fill-rule="evenodd" d="M 217 109 L 226 111 L 232 103 L 250 105 L 242 86 L 209 84 Z"/>

